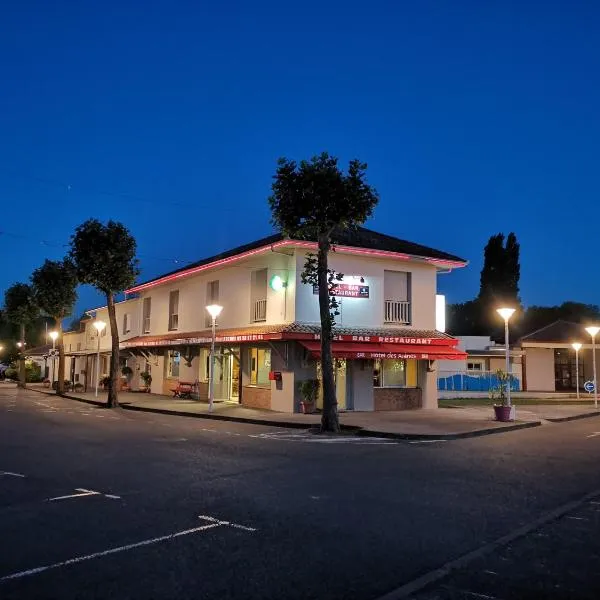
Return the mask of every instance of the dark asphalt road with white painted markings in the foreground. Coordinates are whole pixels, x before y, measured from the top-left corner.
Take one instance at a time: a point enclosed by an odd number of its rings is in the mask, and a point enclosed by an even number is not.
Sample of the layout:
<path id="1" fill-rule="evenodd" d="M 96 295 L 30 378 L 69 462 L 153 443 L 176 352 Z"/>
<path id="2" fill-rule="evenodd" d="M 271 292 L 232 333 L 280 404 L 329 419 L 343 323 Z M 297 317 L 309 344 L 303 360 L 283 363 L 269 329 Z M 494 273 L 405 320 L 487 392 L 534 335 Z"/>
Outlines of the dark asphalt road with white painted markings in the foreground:
<path id="1" fill-rule="evenodd" d="M 0 387 L 0 598 L 597 598 L 599 459 L 599 418 L 331 439 Z"/>

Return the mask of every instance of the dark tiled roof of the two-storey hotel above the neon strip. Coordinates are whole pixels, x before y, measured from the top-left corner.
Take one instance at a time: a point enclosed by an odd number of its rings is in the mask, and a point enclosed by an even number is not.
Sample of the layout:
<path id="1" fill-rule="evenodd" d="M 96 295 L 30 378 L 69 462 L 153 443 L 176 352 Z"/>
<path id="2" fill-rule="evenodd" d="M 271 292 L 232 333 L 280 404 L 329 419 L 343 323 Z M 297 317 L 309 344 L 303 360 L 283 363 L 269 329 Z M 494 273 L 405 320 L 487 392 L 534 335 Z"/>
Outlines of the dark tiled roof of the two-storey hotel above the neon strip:
<path id="1" fill-rule="evenodd" d="M 287 237 L 283 233 L 274 233 L 273 235 L 260 238 L 259 240 L 256 240 L 254 242 L 250 242 L 242 246 L 237 246 L 236 248 L 232 248 L 231 250 L 227 250 L 226 252 L 221 252 L 220 254 L 215 254 L 214 256 L 210 256 L 208 258 L 203 258 L 202 260 L 190 263 L 189 265 L 181 267 L 180 269 L 175 269 L 174 271 L 163 273 L 158 277 L 153 277 L 152 279 L 136 284 L 136 286 L 134 287 L 137 287 L 138 285 L 145 285 L 146 283 L 151 283 L 152 281 L 162 279 L 163 277 L 169 277 L 170 275 L 175 275 L 177 273 L 187 271 L 188 269 L 194 269 L 196 267 L 208 265 L 218 260 L 231 258 L 233 256 L 237 256 L 238 254 L 243 254 L 244 252 L 249 252 L 258 248 L 263 248 L 264 246 L 275 244 L 284 239 L 287 239 Z M 293 239 L 315 241 L 309 238 L 294 237 Z M 442 252 L 441 250 L 436 250 L 435 248 L 430 248 L 428 246 L 423 246 L 414 242 L 408 242 L 406 240 L 402 240 L 391 235 L 386 235 L 384 233 L 378 233 L 376 231 L 366 229 L 365 227 L 358 227 L 355 230 L 346 230 L 338 233 L 335 236 L 335 244 L 341 246 L 352 246 L 353 248 L 384 250 L 387 252 L 398 252 L 401 254 L 410 254 L 412 256 L 423 258 L 434 258 L 437 260 L 449 260 L 462 262 L 465 264 L 467 263 L 467 261 L 464 258 L 455 256 L 454 254 L 448 254 L 447 252 Z"/>

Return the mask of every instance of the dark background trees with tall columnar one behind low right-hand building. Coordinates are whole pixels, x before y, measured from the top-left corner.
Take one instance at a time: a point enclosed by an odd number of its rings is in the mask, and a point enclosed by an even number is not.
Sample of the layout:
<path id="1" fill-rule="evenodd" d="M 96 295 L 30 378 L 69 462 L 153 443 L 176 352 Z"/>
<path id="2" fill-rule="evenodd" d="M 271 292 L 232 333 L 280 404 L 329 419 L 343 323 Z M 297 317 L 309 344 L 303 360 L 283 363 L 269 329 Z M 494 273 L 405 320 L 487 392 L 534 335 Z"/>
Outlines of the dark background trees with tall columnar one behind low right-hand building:
<path id="1" fill-rule="evenodd" d="M 448 306 L 448 332 L 452 335 L 489 335 L 503 341 L 503 323 L 496 313 L 500 306 L 517 309 L 511 319 L 511 329 L 517 337 L 558 320 L 600 321 L 600 308 L 595 304 L 567 301 L 559 306 L 523 308 L 519 296 L 520 278 L 520 245 L 516 235 L 509 233 L 505 237 L 498 233 L 491 236 L 483 252 L 479 294 L 473 300 Z"/>

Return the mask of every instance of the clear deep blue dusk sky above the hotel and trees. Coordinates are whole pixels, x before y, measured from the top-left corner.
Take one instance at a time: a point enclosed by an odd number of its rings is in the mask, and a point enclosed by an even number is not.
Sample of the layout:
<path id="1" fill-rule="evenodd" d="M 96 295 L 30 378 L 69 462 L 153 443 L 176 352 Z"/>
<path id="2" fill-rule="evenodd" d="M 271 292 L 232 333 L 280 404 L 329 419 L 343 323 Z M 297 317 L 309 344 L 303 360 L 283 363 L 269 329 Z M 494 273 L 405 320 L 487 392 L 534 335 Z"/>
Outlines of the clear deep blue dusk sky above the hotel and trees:
<path id="1" fill-rule="evenodd" d="M 514 231 L 526 305 L 599 303 L 599 28 L 592 0 L 5 3 L 1 291 L 89 217 L 142 278 L 268 235 L 277 158 L 327 150 L 368 163 L 368 227 L 470 261 L 449 302 Z"/>

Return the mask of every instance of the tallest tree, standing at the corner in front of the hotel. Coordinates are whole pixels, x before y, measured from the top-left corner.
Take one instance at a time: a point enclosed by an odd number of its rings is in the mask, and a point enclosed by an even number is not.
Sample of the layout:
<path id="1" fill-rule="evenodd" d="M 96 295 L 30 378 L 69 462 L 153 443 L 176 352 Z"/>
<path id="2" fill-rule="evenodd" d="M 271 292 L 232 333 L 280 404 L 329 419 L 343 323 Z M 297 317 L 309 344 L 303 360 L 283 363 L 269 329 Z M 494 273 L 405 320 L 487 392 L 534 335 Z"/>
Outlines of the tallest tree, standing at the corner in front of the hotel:
<path id="1" fill-rule="evenodd" d="M 279 159 L 269 197 L 272 222 L 289 236 L 301 236 L 318 243 L 316 258 L 307 257 L 302 281 L 316 283 L 319 289 L 321 319 L 321 371 L 323 377 L 323 414 L 321 430 L 340 430 L 331 341 L 337 302 L 331 295 L 339 279 L 329 269 L 328 256 L 336 233 L 364 223 L 379 201 L 374 188 L 366 182 L 367 165 L 350 161 L 346 174 L 338 159 L 326 152 L 299 164 Z"/>

